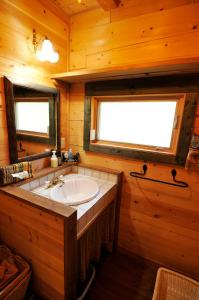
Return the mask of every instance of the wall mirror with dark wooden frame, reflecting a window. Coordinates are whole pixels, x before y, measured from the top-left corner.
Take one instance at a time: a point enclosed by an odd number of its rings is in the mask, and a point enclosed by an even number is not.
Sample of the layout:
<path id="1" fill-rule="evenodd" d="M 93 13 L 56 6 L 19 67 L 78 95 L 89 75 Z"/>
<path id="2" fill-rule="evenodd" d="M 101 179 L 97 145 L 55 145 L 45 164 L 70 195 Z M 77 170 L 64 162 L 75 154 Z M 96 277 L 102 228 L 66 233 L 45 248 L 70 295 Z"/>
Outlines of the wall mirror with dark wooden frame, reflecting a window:
<path id="1" fill-rule="evenodd" d="M 26 87 L 4 78 L 10 163 L 34 160 L 60 151 L 59 93 Z"/>

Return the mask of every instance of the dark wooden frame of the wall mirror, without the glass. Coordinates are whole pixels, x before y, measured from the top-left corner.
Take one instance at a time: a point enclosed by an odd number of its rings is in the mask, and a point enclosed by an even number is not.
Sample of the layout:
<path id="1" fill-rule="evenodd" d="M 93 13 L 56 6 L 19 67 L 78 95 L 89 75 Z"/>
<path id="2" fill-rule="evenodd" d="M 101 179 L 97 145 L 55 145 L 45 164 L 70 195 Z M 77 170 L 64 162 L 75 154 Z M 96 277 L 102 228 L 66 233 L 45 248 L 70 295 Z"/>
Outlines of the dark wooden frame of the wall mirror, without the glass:
<path id="1" fill-rule="evenodd" d="M 60 152 L 61 150 L 61 139 L 60 139 L 60 93 L 56 88 L 45 87 L 41 85 L 20 85 L 14 84 L 11 82 L 7 77 L 4 77 L 4 93 L 6 99 L 6 117 L 7 117 L 7 129 L 8 129 L 8 142 L 9 142 L 9 156 L 10 156 L 10 163 L 17 163 L 21 161 L 32 161 L 35 159 L 40 159 L 44 157 L 51 156 L 51 151 L 45 151 L 38 154 L 25 156 L 24 158 L 18 158 L 18 151 L 17 151 L 17 132 L 16 132 L 16 125 L 15 125 L 15 108 L 14 108 L 14 87 L 21 86 L 22 88 L 29 88 L 35 90 L 35 92 L 43 92 L 46 94 L 51 94 L 54 97 L 55 105 L 57 106 L 56 110 L 56 123 L 57 123 L 57 139 L 56 139 L 56 148 L 57 151 Z"/>

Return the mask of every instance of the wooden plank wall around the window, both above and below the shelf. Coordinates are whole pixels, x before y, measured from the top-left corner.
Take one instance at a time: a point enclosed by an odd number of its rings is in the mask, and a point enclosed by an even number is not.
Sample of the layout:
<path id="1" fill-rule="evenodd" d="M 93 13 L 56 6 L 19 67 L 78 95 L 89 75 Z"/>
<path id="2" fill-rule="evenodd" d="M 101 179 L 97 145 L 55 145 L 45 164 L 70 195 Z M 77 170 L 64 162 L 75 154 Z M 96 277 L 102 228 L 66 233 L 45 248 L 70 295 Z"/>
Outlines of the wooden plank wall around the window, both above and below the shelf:
<path id="1" fill-rule="evenodd" d="M 72 16 L 70 70 L 118 69 L 128 64 L 199 58 L 199 3 L 192 0 L 125 0 L 118 9 Z M 124 171 L 119 246 L 199 278 L 199 161 L 177 167 L 189 188 L 129 176 L 143 162 L 83 151 L 84 86 L 70 91 L 69 143 L 85 163 Z M 194 132 L 199 134 L 199 104 Z M 173 166 L 148 163 L 148 176 L 170 180 Z"/>

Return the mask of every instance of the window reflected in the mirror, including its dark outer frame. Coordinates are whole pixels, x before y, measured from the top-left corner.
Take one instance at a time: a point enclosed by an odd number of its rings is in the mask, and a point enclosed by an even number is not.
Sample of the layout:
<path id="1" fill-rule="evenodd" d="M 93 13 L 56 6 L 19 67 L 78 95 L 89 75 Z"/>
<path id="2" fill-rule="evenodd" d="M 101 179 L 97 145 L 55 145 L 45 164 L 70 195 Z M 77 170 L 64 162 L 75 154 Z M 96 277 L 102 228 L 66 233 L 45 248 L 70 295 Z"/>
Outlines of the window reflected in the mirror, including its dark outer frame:
<path id="1" fill-rule="evenodd" d="M 53 96 L 15 96 L 15 126 L 18 140 L 54 144 L 55 101 Z"/>

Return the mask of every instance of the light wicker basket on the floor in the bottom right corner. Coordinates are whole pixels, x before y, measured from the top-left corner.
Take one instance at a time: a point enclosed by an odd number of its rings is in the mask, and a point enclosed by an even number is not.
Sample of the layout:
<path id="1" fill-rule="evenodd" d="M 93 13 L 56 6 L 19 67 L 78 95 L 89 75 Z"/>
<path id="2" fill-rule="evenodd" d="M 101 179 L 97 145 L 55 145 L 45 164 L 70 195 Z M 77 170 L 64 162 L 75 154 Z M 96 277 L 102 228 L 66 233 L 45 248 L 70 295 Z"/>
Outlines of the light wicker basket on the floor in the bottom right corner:
<path id="1" fill-rule="evenodd" d="M 199 282 L 159 268 L 152 300 L 199 300 Z"/>

